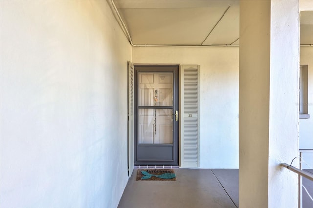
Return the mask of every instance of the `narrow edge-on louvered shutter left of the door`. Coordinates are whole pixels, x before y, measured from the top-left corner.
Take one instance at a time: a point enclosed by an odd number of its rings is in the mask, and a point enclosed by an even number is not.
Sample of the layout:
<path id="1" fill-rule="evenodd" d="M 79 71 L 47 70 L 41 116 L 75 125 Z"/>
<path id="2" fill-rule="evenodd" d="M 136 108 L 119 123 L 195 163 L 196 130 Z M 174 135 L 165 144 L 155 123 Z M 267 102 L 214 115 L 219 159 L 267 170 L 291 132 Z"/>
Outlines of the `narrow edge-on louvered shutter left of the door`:
<path id="1" fill-rule="evenodd" d="M 127 62 L 128 66 L 128 177 L 134 169 L 134 65 Z"/>

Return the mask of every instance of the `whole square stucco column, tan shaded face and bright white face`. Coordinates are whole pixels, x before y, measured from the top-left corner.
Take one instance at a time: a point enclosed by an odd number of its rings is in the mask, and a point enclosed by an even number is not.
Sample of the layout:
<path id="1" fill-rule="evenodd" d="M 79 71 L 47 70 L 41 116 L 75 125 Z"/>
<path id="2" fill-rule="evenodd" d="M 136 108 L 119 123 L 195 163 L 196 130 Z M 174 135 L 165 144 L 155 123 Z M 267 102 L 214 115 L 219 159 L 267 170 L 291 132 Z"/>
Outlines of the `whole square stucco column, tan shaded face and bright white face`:
<path id="1" fill-rule="evenodd" d="M 239 206 L 297 207 L 298 0 L 240 1 L 239 51 Z"/>

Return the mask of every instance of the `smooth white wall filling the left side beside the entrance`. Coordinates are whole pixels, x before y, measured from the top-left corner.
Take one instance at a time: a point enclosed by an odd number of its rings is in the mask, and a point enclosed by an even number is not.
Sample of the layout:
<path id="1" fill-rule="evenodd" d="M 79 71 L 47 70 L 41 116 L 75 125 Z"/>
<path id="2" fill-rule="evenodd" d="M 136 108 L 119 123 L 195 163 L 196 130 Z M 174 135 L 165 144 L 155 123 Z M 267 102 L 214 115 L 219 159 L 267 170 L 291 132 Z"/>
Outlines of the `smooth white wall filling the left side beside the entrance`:
<path id="1" fill-rule="evenodd" d="M 1 1 L 1 207 L 116 207 L 127 60 L 106 1 Z"/>

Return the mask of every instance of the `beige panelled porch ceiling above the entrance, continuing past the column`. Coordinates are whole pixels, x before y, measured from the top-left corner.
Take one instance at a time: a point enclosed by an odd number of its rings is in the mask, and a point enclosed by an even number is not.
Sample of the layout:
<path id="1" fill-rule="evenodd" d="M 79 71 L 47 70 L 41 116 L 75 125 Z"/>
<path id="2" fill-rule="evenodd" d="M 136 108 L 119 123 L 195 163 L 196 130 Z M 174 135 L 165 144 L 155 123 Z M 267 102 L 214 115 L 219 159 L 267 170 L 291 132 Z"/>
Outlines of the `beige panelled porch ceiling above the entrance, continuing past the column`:
<path id="1" fill-rule="evenodd" d="M 135 45 L 239 45 L 239 0 L 113 0 Z M 313 44 L 313 11 L 300 44 Z"/>

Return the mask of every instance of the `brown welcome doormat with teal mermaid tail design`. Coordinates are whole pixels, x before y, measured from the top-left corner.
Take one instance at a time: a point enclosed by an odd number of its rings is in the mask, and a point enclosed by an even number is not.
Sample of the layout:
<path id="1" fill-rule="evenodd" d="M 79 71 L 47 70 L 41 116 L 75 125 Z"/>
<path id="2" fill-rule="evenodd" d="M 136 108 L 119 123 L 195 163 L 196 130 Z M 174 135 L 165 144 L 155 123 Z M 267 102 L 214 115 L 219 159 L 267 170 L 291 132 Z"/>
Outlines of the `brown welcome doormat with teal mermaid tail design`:
<path id="1" fill-rule="evenodd" d="M 176 181 L 173 169 L 138 169 L 137 181 Z"/>

